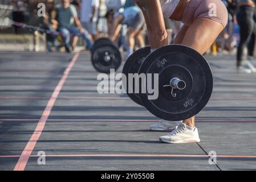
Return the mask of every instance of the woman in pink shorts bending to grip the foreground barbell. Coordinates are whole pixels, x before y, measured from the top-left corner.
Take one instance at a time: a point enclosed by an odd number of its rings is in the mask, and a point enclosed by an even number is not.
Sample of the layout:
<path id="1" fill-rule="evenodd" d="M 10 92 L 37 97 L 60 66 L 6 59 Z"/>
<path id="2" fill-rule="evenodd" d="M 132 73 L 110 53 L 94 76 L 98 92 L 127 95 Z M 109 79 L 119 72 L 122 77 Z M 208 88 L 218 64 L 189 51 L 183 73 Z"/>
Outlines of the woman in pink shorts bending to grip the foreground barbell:
<path id="1" fill-rule="evenodd" d="M 227 24 L 227 9 L 221 0 L 135 0 L 143 11 L 152 51 L 168 44 L 164 18 L 180 20 L 184 25 L 174 44 L 183 44 L 204 54 Z M 174 130 L 160 137 L 165 143 L 200 142 L 195 117 L 178 122 Z M 161 121 L 151 129 L 173 129 L 172 122 Z"/>

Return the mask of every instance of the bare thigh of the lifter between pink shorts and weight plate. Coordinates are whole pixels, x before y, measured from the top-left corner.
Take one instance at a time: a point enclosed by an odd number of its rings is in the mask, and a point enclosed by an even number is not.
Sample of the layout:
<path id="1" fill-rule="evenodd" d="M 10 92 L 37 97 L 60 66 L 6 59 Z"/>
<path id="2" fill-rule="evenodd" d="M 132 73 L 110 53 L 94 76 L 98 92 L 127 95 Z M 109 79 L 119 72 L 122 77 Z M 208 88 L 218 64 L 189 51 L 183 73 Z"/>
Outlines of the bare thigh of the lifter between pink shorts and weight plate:
<path id="1" fill-rule="evenodd" d="M 188 27 L 182 44 L 204 54 L 220 35 L 224 27 L 208 18 L 198 18 Z"/>

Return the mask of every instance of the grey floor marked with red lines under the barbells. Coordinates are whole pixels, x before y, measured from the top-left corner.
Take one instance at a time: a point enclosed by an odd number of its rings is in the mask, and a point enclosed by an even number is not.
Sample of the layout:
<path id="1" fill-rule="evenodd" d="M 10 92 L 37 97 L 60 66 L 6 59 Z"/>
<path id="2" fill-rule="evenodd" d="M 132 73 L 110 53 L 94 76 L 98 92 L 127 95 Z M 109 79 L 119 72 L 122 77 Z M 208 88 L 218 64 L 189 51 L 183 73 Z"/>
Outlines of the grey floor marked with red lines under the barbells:
<path id="1" fill-rule="evenodd" d="M 214 90 L 196 118 L 201 142 L 164 144 L 149 130 L 159 118 L 97 93 L 89 53 L 1 52 L 0 170 L 256 170 L 256 73 L 237 73 L 234 56 L 206 59 Z"/>

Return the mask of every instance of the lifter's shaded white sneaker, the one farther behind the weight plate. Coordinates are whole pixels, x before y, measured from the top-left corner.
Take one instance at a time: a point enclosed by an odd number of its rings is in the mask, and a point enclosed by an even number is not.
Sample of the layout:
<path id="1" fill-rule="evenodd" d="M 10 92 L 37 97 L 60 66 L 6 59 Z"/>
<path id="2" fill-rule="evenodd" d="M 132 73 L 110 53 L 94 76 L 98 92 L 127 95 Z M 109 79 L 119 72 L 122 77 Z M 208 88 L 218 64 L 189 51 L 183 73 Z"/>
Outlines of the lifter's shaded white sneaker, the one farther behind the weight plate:
<path id="1" fill-rule="evenodd" d="M 176 128 L 176 126 L 180 125 L 182 121 L 165 121 L 161 119 L 155 125 L 151 125 L 150 129 L 153 131 L 172 131 Z"/>

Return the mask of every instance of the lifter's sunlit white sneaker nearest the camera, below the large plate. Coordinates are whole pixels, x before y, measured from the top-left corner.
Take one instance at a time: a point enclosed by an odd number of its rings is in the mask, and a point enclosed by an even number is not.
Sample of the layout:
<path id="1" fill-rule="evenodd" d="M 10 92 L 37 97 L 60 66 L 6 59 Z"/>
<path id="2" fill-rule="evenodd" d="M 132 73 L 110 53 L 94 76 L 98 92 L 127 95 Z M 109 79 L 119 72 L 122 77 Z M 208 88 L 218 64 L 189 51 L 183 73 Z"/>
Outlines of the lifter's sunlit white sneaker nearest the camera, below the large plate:
<path id="1" fill-rule="evenodd" d="M 191 131 L 187 128 L 184 123 L 176 126 L 176 129 L 173 130 L 168 135 L 160 137 L 159 140 L 164 143 L 196 143 L 200 142 L 198 135 L 198 130 L 194 127 L 194 130 Z"/>

